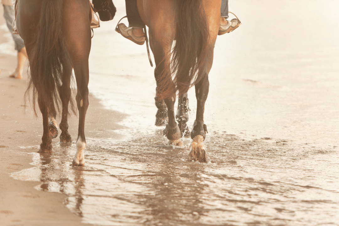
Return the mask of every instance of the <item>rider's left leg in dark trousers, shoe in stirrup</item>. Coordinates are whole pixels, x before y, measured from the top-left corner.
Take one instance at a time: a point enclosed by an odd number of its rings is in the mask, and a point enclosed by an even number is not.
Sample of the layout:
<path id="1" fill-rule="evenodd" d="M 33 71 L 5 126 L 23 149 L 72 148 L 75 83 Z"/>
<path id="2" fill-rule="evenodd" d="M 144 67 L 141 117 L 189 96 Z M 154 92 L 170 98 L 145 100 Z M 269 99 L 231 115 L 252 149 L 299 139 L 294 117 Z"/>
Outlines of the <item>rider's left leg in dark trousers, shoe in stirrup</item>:
<path id="1" fill-rule="evenodd" d="M 125 24 L 120 23 L 118 24 L 116 31 L 123 37 L 142 45 L 145 43 L 145 33 L 143 31 L 145 24 L 140 18 L 137 0 L 125 0 L 125 3 L 128 27 L 126 27 Z"/>

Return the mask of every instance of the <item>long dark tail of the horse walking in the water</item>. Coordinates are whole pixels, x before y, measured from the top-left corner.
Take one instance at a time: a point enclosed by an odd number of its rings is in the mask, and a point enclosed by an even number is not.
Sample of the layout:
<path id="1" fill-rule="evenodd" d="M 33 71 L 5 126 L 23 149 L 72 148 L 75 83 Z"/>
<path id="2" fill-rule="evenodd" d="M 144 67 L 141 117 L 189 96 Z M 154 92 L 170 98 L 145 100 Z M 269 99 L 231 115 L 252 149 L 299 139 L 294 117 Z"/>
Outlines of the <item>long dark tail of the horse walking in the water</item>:
<path id="1" fill-rule="evenodd" d="M 203 0 L 176 0 L 175 45 L 171 71 L 179 95 L 206 76 L 209 28 Z"/>

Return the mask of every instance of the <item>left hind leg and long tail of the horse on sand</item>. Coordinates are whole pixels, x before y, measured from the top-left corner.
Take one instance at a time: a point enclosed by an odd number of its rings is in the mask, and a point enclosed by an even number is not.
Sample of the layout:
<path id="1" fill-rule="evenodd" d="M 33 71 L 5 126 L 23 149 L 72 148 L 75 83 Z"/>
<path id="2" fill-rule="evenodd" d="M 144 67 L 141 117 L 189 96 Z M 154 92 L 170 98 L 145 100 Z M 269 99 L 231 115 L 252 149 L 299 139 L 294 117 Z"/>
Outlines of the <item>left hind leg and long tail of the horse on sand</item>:
<path id="1" fill-rule="evenodd" d="M 57 93 L 61 86 L 62 65 L 65 55 L 61 35 L 62 0 L 35 1 L 20 0 L 16 4 L 18 31 L 27 50 L 31 78 L 26 94 L 33 88 L 33 105 L 38 105 L 43 118 L 41 151 L 52 149 L 51 131 L 57 131 L 57 124 L 48 125 L 48 116 L 55 118 Z M 29 10 L 28 10 L 29 9 Z M 35 110 L 35 107 L 34 107 Z M 36 112 L 35 112 L 36 113 Z M 55 121 L 55 119 L 53 119 Z"/>

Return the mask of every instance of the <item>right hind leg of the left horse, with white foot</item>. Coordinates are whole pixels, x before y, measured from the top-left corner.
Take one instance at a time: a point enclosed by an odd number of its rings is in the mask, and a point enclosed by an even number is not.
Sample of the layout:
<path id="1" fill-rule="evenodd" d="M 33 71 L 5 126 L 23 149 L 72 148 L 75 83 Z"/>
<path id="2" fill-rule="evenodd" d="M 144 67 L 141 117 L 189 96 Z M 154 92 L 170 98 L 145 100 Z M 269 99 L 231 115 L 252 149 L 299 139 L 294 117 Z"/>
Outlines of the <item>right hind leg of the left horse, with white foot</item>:
<path id="1" fill-rule="evenodd" d="M 85 164 L 84 149 L 86 139 L 84 133 L 85 116 L 88 108 L 88 57 L 91 50 L 91 9 L 88 1 L 64 0 L 67 5 L 63 7 L 63 33 L 69 58 L 74 68 L 77 83 L 76 101 L 79 110 L 79 128 L 77 138 L 77 151 L 73 159 L 73 165 Z M 83 12 L 89 12 L 88 15 Z"/>

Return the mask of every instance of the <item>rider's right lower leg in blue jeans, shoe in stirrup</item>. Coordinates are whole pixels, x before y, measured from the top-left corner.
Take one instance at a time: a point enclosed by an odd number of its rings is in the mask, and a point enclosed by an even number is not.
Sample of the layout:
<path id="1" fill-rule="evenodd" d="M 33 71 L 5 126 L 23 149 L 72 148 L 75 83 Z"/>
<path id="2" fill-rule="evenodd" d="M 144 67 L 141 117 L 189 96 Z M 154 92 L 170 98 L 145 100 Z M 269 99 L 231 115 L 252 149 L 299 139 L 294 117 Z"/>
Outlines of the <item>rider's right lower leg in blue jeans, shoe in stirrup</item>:
<path id="1" fill-rule="evenodd" d="M 232 32 L 239 27 L 241 22 L 239 19 L 226 20 L 228 18 L 228 0 L 221 0 L 220 8 L 220 27 L 218 35 L 223 35 Z"/>

